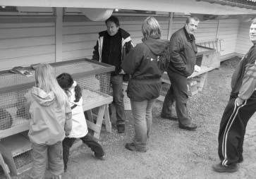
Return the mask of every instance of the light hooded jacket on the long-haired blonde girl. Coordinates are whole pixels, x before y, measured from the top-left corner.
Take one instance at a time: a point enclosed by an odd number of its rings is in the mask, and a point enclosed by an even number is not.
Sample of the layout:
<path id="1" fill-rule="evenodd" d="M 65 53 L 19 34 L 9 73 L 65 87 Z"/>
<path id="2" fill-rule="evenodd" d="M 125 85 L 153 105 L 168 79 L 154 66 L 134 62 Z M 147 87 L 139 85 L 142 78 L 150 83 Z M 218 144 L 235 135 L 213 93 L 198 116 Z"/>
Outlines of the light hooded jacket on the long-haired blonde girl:
<path id="1" fill-rule="evenodd" d="M 65 105 L 58 104 L 54 92 L 32 87 L 26 95 L 30 104 L 30 130 L 28 136 L 37 144 L 54 144 L 65 137 Z"/>

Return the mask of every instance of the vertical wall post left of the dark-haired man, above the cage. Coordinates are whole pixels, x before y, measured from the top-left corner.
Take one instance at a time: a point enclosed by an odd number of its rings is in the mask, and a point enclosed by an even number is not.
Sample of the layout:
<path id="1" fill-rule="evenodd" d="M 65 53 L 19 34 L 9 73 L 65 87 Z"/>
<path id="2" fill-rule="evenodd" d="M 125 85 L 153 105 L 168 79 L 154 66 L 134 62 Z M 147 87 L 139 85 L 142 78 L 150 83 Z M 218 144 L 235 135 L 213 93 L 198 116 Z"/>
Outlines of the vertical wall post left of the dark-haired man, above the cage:
<path id="1" fill-rule="evenodd" d="M 62 29 L 63 29 L 63 8 L 54 8 L 55 23 L 55 61 L 62 61 Z"/>

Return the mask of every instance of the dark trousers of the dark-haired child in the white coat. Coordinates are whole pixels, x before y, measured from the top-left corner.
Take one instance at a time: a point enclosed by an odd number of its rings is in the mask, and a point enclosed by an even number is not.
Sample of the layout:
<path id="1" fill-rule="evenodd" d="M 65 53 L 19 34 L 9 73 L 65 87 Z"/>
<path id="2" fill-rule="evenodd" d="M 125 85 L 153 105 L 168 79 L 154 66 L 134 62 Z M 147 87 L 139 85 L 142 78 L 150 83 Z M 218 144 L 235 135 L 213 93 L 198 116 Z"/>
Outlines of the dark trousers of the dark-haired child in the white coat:
<path id="1" fill-rule="evenodd" d="M 67 167 L 68 163 L 68 157 L 69 157 L 69 149 L 72 147 L 73 143 L 75 142 L 76 138 L 68 138 L 66 137 L 63 142 L 63 162 L 64 167 Z M 102 149 L 102 146 L 95 140 L 92 135 L 87 133 L 85 137 L 81 137 L 80 140 L 83 141 L 88 147 L 92 149 L 93 152 L 95 152 L 95 156 L 104 156 L 104 150 Z"/>

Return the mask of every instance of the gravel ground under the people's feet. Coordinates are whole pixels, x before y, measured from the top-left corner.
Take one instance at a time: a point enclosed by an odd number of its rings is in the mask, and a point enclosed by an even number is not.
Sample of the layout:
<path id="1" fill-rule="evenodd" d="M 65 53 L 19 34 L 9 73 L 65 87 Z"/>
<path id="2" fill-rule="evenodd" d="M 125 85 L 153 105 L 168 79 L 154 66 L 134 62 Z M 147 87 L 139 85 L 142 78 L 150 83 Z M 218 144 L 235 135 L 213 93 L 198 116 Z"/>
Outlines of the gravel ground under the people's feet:
<path id="1" fill-rule="evenodd" d="M 215 173 L 212 164 L 218 163 L 217 134 L 221 115 L 231 90 L 231 74 L 239 59 L 221 63 L 221 68 L 208 74 L 202 92 L 190 97 L 188 110 L 197 123 L 195 132 L 181 130 L 176 121 L 160 117 L 161 101 L 153 108 L 153 125 L 149 150 L 130 152 L 124 148 L 133 137 L 133 117 L 126 111 L 127 128 L 122 135 L 114 129 L 102 129 L 99 142 L 107 159 L 93 158 L 88 147 L 73 150 L 68 171 L 63 178 L 255 178 L 256 175 L 256 116 L 248 123 L 244 142 L 244 159 L 236 173 Z M 47 174 L 48 175 L 48 174 Z M 15 178 L 28 178 L 24 173 Z"/>

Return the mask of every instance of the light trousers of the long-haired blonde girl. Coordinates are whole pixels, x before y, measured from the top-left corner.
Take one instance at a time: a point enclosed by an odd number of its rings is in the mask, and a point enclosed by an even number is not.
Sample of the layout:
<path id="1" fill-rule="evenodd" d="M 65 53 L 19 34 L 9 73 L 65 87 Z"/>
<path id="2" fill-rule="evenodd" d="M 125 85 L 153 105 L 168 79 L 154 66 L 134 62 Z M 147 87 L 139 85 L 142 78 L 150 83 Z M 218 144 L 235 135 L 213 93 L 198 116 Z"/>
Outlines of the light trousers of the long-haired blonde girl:
<path id="1" fill-rule="evenodd" d="M 63 173 L 62 142 L 56 144 L 35 144 L 32 143 L 32 172 L 30 178 L 43 179 L 47 167 L 54 176 Z"/>

